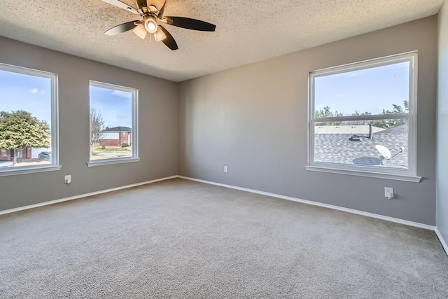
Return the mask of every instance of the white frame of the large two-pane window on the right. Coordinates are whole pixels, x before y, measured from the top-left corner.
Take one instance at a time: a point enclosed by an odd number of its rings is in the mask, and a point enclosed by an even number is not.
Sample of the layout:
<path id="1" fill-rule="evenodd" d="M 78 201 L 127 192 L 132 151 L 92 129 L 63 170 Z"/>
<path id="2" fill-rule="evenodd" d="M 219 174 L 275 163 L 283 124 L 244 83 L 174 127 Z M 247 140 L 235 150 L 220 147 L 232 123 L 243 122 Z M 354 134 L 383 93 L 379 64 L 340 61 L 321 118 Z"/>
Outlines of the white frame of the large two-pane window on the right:
<path id="1" fill-rule="evenodd" d="M 409 62 L 409 113 L 372 115 L 372 116 L 341 116 L 330 118 L 316 118 L 314 106 L 314 86 L 315 78 L 341 74 L 347 71 L 358 71 L 361 69 L 371 69 L 400 62 Z M 355 176 L 368 176 L 381 179 L 395 179 L 398 181 L 421 181 L 420 176 L 416 176 L 416 123 L 417 123 L 417 52 L 402 53 L 388 57 L 381 57 L 374 60 L 366 60 L 352 64 L 344 64 L 338 67 L 320 69 L 309 73 L 309 102 L 308 102 L 308 165 L 307 170 L 314 172 L 330 172 L 337 174 L 349 174 Z M 400 118 L 408 122 L 408 169 L 393 169 L 390 167 L 364 167 L 360 165 L 348 165 L 340 163 L 314 162 L 314 127 L 315 123 L 337 120 L 382 120 Z"/>

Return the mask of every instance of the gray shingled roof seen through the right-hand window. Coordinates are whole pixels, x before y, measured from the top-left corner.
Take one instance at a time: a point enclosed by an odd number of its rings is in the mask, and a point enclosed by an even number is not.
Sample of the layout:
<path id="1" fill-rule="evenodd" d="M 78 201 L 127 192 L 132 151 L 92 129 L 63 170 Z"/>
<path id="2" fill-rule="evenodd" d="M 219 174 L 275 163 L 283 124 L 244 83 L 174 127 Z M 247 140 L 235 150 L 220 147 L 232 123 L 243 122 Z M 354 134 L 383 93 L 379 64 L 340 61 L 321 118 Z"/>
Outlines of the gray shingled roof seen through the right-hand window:
<path id="1" fill-rule="evenodd" d="M 373 130 L 373 132 L 375 131 Z M 398 148 L 404 149 L 402 153 L 391 160 L 383 160 L 384 167 L 407 169 L 407 132 L 407 125 L 400 125 L 373 133 L 373 139 L 360 138 L 360 141 L 350 141 L 349 138 L 352 134 L 319 134 L 316 132 L 314 161 L 352 165 L 364 162 L 365 165 L 368 165 L 369 162 L 374 162 L 374 158 L 381 156 L 375 148 L 376 145 L 381 145 L 388 148 L 392 155 L 398 153 Z M 362 135 L 368 136 L 368 129 Z M 353 160 L 356 163 L 353 163 Z"/>

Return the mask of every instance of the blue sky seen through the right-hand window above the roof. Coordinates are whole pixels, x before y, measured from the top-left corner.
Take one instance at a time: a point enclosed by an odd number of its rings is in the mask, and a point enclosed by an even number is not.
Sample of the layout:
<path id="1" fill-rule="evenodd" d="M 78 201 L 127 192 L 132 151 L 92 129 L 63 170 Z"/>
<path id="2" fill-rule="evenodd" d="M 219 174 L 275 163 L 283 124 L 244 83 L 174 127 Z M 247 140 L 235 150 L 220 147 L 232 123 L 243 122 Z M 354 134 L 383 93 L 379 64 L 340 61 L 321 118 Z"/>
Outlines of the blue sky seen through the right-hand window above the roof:
<path id="1" fill-rule="evenodd" d="M 379 114 L 409 99 L 409 62 L 316 77 L 314 92 L 316 111 Z"/>

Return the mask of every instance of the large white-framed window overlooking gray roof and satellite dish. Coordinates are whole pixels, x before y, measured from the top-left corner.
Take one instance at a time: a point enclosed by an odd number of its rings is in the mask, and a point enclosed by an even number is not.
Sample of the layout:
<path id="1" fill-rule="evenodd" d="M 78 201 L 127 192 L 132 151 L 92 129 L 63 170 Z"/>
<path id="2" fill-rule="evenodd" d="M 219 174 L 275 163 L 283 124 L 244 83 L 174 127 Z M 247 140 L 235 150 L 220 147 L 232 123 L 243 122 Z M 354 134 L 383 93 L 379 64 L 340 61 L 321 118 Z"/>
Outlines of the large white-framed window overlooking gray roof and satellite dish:
<path id="1" fill-rule="evenodd" d="M 420 181 L 416 53 L 309 74 L 308 170 Z"/>

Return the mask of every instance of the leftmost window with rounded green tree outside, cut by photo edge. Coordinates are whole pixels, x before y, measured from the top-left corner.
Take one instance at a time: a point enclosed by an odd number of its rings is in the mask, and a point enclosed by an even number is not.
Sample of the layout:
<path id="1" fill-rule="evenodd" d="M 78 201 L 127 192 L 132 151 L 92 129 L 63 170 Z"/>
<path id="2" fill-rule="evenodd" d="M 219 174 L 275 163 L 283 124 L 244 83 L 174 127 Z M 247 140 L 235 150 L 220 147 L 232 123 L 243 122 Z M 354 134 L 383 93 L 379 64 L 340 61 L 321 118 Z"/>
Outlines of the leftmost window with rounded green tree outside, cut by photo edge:
<path id="1" fill-rule="evenodd" d="M 0 176 L 58 170 L 57 74 L 0 64 Z"/>

